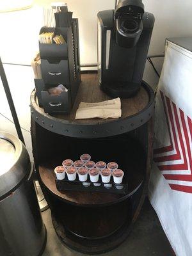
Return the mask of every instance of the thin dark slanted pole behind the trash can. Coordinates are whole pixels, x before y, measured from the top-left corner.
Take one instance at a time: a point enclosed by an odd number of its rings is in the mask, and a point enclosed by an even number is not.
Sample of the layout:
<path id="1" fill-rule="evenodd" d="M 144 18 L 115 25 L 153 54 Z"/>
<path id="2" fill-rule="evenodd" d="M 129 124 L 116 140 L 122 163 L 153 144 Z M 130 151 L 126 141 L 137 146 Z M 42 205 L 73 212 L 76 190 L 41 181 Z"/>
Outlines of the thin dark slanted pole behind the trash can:
<path id="1" fill-rule="evenodd" d="M 17 117 L 17 113 L 16 113 L 15 106 L 14 106 L 13 99 L 12 99 L 12 93 L 10 92 L 10 87 L 9 87 L 8 81 L 6 79 L 6 74 L 4 72 L 3 63 L 1 61 L 1 58 L 0 58 L 0 76 L 1 76 L 2 83 L 3 83 L 4 92 L 6 94 L 6 99 L 8 100 L 8 104 L 9 104 L 10 110 L 12 112 L 13 121 L 15 123 L 15 129 L 17 131 L 19 140 L 21 140 L 22 143 L 24 143 L 24 145 L 25 145 L 25 141 L 22 136 L 22 131 L 20 129 L 19 119 Z"/>

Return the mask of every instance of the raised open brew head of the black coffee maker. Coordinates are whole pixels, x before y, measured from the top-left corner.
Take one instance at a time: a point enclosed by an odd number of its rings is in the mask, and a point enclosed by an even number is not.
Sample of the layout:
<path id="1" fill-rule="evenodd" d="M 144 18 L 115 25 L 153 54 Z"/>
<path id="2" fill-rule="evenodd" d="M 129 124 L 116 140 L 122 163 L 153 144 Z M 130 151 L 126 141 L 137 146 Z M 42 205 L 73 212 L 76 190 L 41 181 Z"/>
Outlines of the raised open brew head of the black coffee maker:
<path id="1" fill-rule="evenodd" d="M 116 44 L 134 47 L 143 31 L 144 13 L 142 0 L 120 0 L 115 10 Z"/>

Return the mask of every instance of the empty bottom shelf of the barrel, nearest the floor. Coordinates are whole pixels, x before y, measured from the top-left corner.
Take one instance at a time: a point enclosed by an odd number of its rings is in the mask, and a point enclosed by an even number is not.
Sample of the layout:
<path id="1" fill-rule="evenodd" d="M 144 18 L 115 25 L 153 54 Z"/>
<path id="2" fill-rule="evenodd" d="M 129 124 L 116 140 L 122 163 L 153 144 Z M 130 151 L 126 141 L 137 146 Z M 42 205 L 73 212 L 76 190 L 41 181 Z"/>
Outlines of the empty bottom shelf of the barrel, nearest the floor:
<path id="1" fill-rule="evenodd" d="M 74 221 L 75 232 L 74 227 L 68 227 L 68 225 L 66 225 L 66 223 L 72 223 L 72 218 L 63 220 L 63 216 L 58 216 L 52 212 L 52 223 L 56 234 L 65 246 L 81 253 L 99 254 L 108 252 L 119 246 L 127 238 L 129 232 L 131 232 L 132 216 L 129 209 L 129 202 L 125 200 L 122 205 L 120 204 L 116 205 L 115 211 L 113 208 L 108 209 L 108 211 L 112 211 L 112 214 L 106 212 L 106 216 L 103 216 L 104 214 L 99 216 L 97 221 L 94 220 L 95 214 L 93 214 L 93 218 L 92 216 L 90 218 L 89 215 L 90 219 L 88 218 L 86 222 L 92 223 L 90 226 L 84 225 L 85 220 L 79 221 L 78 218 L 77 220 L 79 222 Z M 84 216 L 84 218 L 86 218 L 86 216 Z M 109 220 L 107 220 L 107 216 L 109 216 Z M 65 223 L 65 225 L 63 225 L 63 223 Z M 79 236 L 78 232 L 81 232 L 81 236 Z M 84 234 L 84 236 L 82 236 L 82 234 Z M 92 234 L 97 235 L 97 238 L 94 239 Z"/>

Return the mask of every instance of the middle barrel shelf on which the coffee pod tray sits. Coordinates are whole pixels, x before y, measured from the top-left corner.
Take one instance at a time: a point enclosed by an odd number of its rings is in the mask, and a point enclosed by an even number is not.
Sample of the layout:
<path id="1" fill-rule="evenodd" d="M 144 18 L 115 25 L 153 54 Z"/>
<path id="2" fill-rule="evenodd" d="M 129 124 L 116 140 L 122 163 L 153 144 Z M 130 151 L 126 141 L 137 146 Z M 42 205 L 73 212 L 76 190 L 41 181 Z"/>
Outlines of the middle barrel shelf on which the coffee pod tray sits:
<path id="1" fill-rule="evenodd" d="M 124 180 L 128 182 L 128 193 L 126 195 L 112 194 L 112 193 L 93 193 L 86 191 L 58 191 L 56 188 L 54 168 L 62 163 L 62 157 L 60 160 L 52 159 L 51 163 L 40 164 L 39 174 L 40 180 L 43 186 L 56 196 L 58 199 L 68 202 L 69 204 L 84 205 L 84 206 L 102 206 L 109 204 L 116 204 L 121 202 L 130 196 L 132 196 L 143 183 L 144 170 L 142 170 L 140 164 L 129 163 L 129 168 L 125 172 Z"/>

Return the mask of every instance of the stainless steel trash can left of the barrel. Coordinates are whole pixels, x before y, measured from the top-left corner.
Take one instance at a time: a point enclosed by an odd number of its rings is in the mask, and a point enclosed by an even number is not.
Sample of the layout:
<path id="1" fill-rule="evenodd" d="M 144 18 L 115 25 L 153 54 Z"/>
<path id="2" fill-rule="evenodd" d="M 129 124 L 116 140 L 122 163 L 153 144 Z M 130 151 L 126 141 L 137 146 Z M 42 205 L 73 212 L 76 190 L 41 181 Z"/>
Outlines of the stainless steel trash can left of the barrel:
<path id="1" fill-rule="evenodd" d="M 33 168 L 22 142 L 0 132 L 0 255 L 38 256 L 47 232 L 42 221 Z"/>

